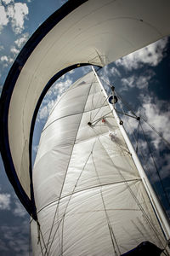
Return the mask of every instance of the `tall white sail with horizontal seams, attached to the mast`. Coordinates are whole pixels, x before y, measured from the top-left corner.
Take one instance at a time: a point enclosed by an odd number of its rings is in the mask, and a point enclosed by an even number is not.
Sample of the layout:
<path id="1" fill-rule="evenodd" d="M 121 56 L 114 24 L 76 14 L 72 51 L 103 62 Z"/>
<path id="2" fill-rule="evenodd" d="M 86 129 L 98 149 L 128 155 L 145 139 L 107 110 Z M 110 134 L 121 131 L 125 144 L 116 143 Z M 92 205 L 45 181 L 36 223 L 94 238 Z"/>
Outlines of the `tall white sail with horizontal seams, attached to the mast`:
<path id="1" fill-rule="evenodd" d="M 166 245 L 94 73 L 73 84 L 50 113 L 33 185 L 40 224 L 38 236 L 31 222 L 34 255 L 121 255 L 143 241 Z"/>

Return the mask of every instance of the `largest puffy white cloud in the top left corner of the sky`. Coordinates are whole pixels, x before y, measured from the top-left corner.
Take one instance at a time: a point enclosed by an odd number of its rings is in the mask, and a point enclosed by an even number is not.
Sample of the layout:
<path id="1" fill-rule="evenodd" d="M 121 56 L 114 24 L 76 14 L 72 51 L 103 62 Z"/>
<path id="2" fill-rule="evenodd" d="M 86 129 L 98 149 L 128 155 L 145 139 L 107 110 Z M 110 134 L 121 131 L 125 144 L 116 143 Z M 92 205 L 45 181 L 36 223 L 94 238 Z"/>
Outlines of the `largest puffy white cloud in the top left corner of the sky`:
<path id="1" fill-rule="evenodd" d="M 14 3 L 7 6 L 8 18 L 10 18 L 12 28 L 16 34 L 24 29 L 24 22 L 29 11 L 26 3 Z"/>

